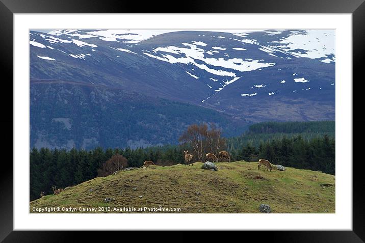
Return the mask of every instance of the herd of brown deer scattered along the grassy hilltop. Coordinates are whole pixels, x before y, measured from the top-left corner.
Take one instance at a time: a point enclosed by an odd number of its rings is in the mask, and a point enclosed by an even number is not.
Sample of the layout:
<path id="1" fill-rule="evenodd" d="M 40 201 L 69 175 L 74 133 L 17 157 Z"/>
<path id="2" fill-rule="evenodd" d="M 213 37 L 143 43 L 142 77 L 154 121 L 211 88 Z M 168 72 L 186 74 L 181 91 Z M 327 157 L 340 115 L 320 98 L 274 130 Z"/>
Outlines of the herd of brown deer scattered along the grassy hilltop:
<path id="1" fill-rule="evenodd" d="M 184 158 L 185 158 L 185 165 L 190 166 L 190 165 L 194 164 L 193 155 L 189 154 L 188 152 L 189 152 L 188 150 L 184 150 Z M 219 161 L 223 162 L 223 160 L 230 162 L 230 155 L 227 151 L 220 151 L 218 153 L 218 157 L 213 153 L 205 154 L 205 161 L 219 163 Z M 257 170 L 261 170 L 262 165 L 266 166 L 267 171 L 269 171 L 269 170 L 272 171 L 272 169 L 273 169 L 270 162 L 266 159 L 259 159 L 257 163 L 258 163 Z M 144 165 L 144 167 L 147 167 L 147 166 L 154 166 L 155 164 L 152 161 L 147 160 L 147 161 L 144 161 L 143 165 Z M 52 186 L 52 189 L 53 189 L 54 195 L 58 195 L 64 191 L 62 188 L 56 189 L 56 186 Z M 40 196 L 44 197 L 44 194 L 45 194 L 45 192 L 41 192 Z"/>

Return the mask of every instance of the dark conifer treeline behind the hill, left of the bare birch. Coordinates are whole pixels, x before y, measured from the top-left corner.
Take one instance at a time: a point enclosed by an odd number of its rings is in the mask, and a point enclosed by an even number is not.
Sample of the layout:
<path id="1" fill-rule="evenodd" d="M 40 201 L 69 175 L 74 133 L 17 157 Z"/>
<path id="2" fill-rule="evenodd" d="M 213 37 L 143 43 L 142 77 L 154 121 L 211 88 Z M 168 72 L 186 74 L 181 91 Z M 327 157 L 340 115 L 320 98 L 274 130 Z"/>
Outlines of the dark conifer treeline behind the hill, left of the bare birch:
<path id="1" fill-rule="evenodd" d="M 184 152 L 178 146 L 139 149 L 83 149 L 33 148 L 30 151 L 30 200 L 40 197 L 40 192 L 52 194 L 51 186 L 58 188 L 80 184 L 98 176 L 100 169 L 113 155 L 127 159 L 127 167 L 141 167 L 145 160 L 157 165 L 184 163 Z"/>

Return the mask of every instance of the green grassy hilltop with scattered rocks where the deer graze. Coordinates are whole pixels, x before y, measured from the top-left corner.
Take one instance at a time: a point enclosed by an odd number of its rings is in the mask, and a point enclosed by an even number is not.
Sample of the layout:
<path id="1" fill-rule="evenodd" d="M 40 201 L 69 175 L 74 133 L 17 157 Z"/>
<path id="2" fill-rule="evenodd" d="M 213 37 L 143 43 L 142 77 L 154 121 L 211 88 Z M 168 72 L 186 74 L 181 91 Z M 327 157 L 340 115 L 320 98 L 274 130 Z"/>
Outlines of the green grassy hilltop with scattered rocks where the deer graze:
<path id="1" fill-rule="evenodd" d="M 110 207 L 109 212 L 117 212 L 114 207 L 161 206 L 182 213 L 259 213 L 261 203 L 273 213 L 335 212 L 334 175 L 294 168 L 270 172 L 265 166 L 258 171 L 257 163 L 245 161 L 216 165 L 217 172 L 194 163 L 97 177 L 30 202 L 30 212 L 36 212 L 33 207 Z M 113 200 L 105 203 L 106 198 Z"/>

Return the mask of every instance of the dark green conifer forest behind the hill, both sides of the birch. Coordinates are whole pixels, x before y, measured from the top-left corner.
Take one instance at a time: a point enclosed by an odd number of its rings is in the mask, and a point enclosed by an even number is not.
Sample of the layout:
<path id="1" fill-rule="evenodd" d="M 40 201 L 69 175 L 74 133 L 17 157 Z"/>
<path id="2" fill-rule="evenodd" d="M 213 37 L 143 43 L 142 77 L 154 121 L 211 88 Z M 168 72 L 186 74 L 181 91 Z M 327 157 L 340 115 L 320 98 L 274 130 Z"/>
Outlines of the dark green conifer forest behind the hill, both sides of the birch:
<path id="1" fill-rule="evenodd" d="M 254 128 L 242 136 L 227 139 L 231 161 L 265 158 L 272 164 L 335 174 L 334 122 L 308 123 L 310 125 L 300 122 L 254 124 Z M 258 127 L 266 127 L 264 130 L 273 133 L 259 132 Z M 283 133 L 281 127 L 295 133 Z M 53 185 L 64 188 L 97 177 L 97 170 L 114 154 L 123 155 L 129 167 L 141 167 L 145 160 L 157 165 L 173 165 L 185 163 L 183 150 L 186 149 L 178 145 L 106 150 L 97 147 L 90 151 L 33 148 L 30 151 L 30 200 L 39 198 L 41 191 L 52 194 Z"/>

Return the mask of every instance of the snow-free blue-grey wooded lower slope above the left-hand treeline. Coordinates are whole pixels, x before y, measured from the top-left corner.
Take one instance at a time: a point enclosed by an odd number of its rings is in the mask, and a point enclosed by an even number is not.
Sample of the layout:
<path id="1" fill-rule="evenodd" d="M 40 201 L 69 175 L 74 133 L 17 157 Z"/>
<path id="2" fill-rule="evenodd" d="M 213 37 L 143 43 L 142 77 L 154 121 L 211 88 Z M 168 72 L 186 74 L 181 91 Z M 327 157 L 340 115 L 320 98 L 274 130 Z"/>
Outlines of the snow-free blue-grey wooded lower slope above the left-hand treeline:
<path id="1" fill-rule="evenodd" d="M 30 94 L 30 142 L 36 148 L 175 144 L 192 123 L 214 122 L 225 136 L 241 134 L 247 124 L 202 106 L 85 83 L 32 81 Z"/>

